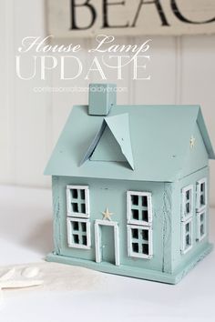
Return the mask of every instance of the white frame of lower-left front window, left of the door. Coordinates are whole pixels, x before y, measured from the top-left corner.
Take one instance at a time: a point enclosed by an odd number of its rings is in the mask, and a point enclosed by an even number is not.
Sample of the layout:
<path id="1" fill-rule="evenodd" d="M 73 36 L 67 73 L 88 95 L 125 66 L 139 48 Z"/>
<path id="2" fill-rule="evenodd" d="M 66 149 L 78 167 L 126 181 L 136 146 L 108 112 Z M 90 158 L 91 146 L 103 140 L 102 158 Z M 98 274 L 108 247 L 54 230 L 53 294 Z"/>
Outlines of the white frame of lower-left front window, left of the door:
<path id="1" fill-rule="evenodd" d="M 86 223 L 87 245 L 76 244 L 73 242 L 72 235 L 74 231 L 72 229 L 72 222 Z M 91 247 L 90 222 L 88 219 L 67 217 L 67 243 L 68 247 L 75 247 L 81 249 L 89 249 Z"/>

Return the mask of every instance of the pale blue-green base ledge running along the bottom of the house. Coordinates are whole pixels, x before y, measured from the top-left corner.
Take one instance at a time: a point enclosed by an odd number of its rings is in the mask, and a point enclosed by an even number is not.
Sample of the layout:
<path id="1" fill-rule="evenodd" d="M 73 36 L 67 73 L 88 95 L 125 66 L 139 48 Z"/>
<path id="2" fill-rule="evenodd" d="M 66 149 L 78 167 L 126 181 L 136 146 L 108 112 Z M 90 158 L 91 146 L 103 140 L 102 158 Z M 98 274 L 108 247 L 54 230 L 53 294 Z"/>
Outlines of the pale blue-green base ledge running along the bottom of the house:
<path id="1" fill-rule="evenodd" d="M 177 284 L 181 280 L 182 277 L 189 273 L 189 270 L 196 266 L 201 259 L 206 257 L 210 254 L 213 246 L 210 243 L 207 243 L 202 248 L 201 252 L 198 255 L 195 255 L 189 260 L 186 265 L 183 267 L 179 267 L 179 269 L 174 272 L 173 274 L 162 273 L 155 270 L 149 270 L 139 267 L 128 267 L 125 265 L 115 266 L 113 264 L 107 262 L 96 263 L 93 261 L 89 261 L 86 259 L 74 258 L 74 257 L 65 257 L 61 255 L 56 255 L 55 253 L 50 253 L 47 255 L 46 260 L 48 262 L 56 262 L 56 263 L 63 263 L 68 265 L 75 265 L 80 267 L 87 267 L 92 268 L 94 270 L 116 274 L 126 277 L 136 277 L 141 279 L 148 279 L 152 281 L 157 281 L 161 283 L 168 283 L 168 284 Z"/>

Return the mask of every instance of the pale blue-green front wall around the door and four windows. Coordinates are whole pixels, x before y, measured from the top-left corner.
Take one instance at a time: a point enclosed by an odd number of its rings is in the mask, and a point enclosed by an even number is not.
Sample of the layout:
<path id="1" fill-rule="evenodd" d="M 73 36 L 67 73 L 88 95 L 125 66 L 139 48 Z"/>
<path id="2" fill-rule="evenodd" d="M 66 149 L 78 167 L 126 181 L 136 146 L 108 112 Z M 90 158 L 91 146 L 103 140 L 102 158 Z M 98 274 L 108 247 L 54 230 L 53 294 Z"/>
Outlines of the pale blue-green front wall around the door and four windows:
<path id="1" fill-rule="evenodd" d="M 87 185 L 89 186 L 90 199 L 90 222 L 91 222 L 91 249 L 78 249 L 67 247 L 67 185 Z M 114 213 L 113 221 L 118 222 L 120 264 L 126 266 L 136 266 L 150 268 L 159 271 L 168 271 L 170 263 L 169 239 L 163 234 L 169 231 L 170 221 L 167 219 L 166 201 L 171 198 L 170 184 L 102 180 L 94 178 L 77 177 L 53 177 L 53 201 L 55 207 L 54 237 L 56 254 L 77 257 L 95 261 L 95 233 L 94 222 L 102 219 L 101 212 L 108 207 Z M 128 257 L 127 238 L 127 191 L 147 191 L 152 193 L 153 208 L 153 257 L 142 259 Z M 167 236 L 167 234 L 165 235 Z M 168 244 L 167 244 L 168 243 Z M 166 247 L 166 248 L 165 248 Z M 163 259 L 165 255 L 165 260 Z"/>

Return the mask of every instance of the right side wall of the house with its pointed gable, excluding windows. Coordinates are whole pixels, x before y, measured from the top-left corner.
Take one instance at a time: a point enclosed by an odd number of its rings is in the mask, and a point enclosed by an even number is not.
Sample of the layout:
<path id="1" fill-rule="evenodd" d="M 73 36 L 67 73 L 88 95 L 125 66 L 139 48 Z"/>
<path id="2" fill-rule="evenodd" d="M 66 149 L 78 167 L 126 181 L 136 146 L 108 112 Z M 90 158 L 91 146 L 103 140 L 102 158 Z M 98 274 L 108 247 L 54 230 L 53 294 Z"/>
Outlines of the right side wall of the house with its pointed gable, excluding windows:
<path id="1" fill-rule="evenodd" d="M 185 157 L 183 170 L 180 173 L 179 180 L 172 184 L 172 266 L 174 271 L 195 257 L 203 247 L 208 243 L 208 236 L 200 242 L 196 240 L 197 236 L 197 215 L 196 215 L 196 183 L 203 177 L 209 179 L 209 160 L 199 126 L 193 129 L 192 136 L 195 138 L 193 147 L 188 146 L 188 153 Z M 208 180 L 209 181 L 209 180 Z M 186 254 L 181 254 L 181 189 L 185 186 L 193 185 L 193 247 Z M 207 212 L 207 223 L 209 223 L 209 211 Z M 209 229 L 207 229 L 207 232 Z"/>

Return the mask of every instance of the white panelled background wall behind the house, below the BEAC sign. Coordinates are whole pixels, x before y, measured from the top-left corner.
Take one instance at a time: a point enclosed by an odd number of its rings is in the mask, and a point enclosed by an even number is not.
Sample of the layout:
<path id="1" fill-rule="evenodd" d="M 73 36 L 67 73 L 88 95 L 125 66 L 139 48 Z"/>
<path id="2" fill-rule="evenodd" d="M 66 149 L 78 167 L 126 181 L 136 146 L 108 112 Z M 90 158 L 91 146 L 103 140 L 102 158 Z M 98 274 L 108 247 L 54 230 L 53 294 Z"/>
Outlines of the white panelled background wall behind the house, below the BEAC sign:
<path id="1" fill-rule="evenodd" d="M 46 35 L 45 1 L 0 0 L 0 183 L 50 186 L 43 176 L 46 161 L 64 126 L 71 106 L 87 104 L 87 94 L 37 94 L 34 86 L 87 86 L 59 81 L 57 70 L 47 81 L 38 76 L 22 81 L 15 75 L 15 55 L 26 35 Z M 146 37 L 144 37 L 146 40 Z M 200 104 L 215 146 L 215 35 L 153 37 L 150 81 L 132 81 L 128 69 L 118 86 L 118 104 Z M 121 43 L 140 43 L 141 37 L 123 37 Z M 71 40 L 69 40 L 71 42 Z M 76 40 L 84 48 L 94 40 Z M 87 50 L 81 58 L 89 64 Z M 89 58 L 89 57 L 88 57 Z M 24 66 L 29 73 L 29 62 Z M 114 74 L 108 81 L 115 81 Z M 96 75 L 90 81 L 97 81 Z M 211 162 L 210 202 L 215 206 L 215 162 Z"/>

